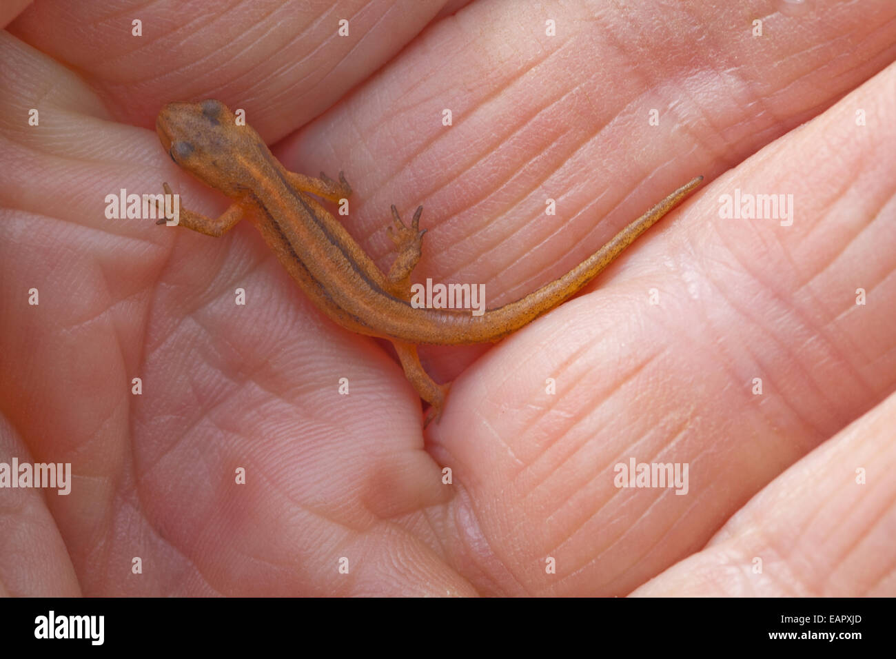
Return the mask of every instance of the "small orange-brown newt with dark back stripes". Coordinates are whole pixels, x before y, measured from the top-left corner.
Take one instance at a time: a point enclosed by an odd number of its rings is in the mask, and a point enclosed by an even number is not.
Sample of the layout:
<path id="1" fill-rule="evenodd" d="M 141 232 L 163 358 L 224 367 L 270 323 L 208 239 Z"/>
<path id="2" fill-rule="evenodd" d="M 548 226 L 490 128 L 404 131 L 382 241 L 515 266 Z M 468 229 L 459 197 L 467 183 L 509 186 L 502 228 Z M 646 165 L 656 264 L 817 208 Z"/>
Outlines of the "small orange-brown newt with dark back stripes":
<path id="1" fill-rule="evenodd" d="M 337 183 L 323 172 L 321 178 L 311 178 L 288 171 L 259 134 L 249 126 L 237 126 L 235 115 L 218 100 L 168 103 L 159 112 L 156 130 L 171 160 L 234 200 L 215 219 L 181 208 L 179 223 L 220 236 L 244 217 L 252 221 L 324 314 L 352 332 L 392 341 L 405 375 L 432 405 L 426 423 L 441 414 L 450 383 L 438 385 L 426 374 L 418 359 L 418 343 L 495 342 L 520 329 L 590 282 L 702 181 L 702 177 L 694 178 L 679 187 L 554 282 L 474 316 L 470 309 L 410 304 L 410 273 L 426 233 L 418 228 L 422 206 L 410 226 L 392 206 L 389 232 L 398 255 L 389 272 L 382 273 L 340 222 L 310 196 L 330 202 L 347 197 L 351 188 L 341 172 Z M 168 183 L 163 187 L 166 194 L 173 194 Z"/>

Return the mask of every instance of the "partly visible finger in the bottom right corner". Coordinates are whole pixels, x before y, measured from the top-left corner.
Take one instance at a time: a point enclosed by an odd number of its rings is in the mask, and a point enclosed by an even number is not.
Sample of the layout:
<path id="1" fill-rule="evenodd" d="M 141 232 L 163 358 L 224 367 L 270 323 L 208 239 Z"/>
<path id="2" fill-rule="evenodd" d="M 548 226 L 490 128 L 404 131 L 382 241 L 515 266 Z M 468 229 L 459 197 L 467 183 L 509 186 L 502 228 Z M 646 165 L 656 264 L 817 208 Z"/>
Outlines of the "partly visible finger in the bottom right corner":
<path id="1" fill-rule="evenodd" d="M 896 395 L 772 481 L 648 597 L 892 597 Z"/>

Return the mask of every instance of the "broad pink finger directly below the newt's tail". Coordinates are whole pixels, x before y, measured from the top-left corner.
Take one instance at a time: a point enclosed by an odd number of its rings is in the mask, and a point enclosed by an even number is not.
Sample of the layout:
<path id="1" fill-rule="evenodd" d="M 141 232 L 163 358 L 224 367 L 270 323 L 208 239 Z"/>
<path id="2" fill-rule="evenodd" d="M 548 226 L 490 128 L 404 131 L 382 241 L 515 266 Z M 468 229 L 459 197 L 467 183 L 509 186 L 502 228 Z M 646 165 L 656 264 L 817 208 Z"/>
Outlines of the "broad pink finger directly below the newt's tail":
<path id="1" fill-rule="evenodd" d="M 626 594 L 892 392 L 893 107 L 896 65 L 455 381 L 434 451 L 469 488 L 457 517 L 478 520 L 461 560 L 504 561 L 508 590 Z M 796 219 L 719 218 L 736 187 L 792 194 Z M 690 464 L 690 490 L 616 488 L 630 458 Z"/>

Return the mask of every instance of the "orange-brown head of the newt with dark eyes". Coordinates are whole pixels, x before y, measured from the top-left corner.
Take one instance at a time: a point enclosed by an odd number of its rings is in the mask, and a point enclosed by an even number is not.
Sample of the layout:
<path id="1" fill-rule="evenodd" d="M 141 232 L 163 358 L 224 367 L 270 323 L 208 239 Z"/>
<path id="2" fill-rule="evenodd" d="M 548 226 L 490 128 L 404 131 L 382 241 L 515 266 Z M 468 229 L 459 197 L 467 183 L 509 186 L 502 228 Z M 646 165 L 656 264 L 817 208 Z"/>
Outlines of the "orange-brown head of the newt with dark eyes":
<path id="1" fill-rule="evenodd" d="M 156 133 L 171 160 L 230 196 L 253 187 L 258 171 L 250 163 L 267 152 L 261 136 L 237 126 L 237 116 L 220 100 L 168 103 L 156 117 Z"/>

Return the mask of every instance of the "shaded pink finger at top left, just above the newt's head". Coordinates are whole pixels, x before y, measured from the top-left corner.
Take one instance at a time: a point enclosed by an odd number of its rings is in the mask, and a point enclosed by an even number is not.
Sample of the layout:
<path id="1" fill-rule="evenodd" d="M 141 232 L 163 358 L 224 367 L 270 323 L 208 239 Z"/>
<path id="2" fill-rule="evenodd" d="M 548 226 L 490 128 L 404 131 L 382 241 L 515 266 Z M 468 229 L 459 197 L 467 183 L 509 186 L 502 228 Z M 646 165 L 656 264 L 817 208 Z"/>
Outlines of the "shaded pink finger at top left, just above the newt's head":
<path id="1" fill-rule="evenodd" d="M 411 0 L 396 11 L 392 2 L 354 2 L 334 13 L 330 2 L 250 11 L 217 3 L 197 15 L 163 2 L 141 8 L 135 34 L 130 19 L 104 20 L 108 6 L 97 0 L 35 3 L 10 30 L 82 71 L 127 123 L 151 127 L 162 102 L 211 97 L 245 108 L 252 126 L 274 142 L 389 61 L 443 4 Z M 68 39 L 73 25 L 79 39 Z M 142 91 L 135 93 L 135 84 Z"/>

